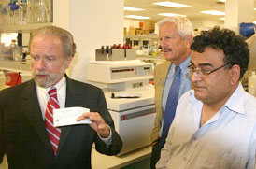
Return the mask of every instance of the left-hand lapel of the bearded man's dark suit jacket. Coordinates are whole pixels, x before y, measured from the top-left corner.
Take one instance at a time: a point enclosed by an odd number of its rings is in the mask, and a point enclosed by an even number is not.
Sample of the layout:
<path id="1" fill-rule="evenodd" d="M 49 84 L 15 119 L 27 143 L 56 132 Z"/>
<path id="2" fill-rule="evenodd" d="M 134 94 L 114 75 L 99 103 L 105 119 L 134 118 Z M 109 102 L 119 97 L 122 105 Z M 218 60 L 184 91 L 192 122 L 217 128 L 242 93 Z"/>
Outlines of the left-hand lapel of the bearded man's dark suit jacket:
<path id="1" fill-rule="evenodd" d="M 21 94 L 21 98 L 21 107 L 23 109 L 25 117 L 27 118 L 27 120 L 29 120 L 31 126 L 35 129 L 36 134 L 46 145 L 46 147 L 52 149 L 50 147 L 49 137 L 45 129 L 41 109 L 38 104 L 36 85 L 33 79 L 28 82 L 27 87 Z"/>

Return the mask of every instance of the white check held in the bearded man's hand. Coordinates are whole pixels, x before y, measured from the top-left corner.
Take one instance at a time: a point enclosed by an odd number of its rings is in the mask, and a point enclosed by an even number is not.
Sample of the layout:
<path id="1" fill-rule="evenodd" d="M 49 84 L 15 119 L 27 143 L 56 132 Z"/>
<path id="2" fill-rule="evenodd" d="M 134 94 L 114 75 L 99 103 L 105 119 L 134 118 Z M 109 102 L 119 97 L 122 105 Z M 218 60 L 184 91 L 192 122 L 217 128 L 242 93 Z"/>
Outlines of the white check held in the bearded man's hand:
<path id="1" fill-rule="evenodd" d="M 90 109 L 84 107 L 68 107 L 53 109 L 53 126 L 60 127 L 65 125 L 75 124 L 92 124 L 89 119 L 77 121 L 76 119 L 82 115 L 82 113 L 90 112 Z"/>

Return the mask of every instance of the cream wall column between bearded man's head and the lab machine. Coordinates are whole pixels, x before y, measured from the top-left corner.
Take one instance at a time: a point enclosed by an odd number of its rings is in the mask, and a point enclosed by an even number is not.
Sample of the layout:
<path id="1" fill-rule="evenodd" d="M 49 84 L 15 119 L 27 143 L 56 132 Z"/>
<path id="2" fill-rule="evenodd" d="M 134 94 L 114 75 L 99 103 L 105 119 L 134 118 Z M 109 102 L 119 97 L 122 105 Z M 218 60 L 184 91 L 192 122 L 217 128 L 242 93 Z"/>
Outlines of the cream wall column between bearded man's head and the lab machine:
<path id="1" fill-rule="evenodd" d="M 70 30 L 77 55 L 67 74 L 86 81 L 87 64 L 95 49 L 123 43 L 123 0 L 54 0 L 53 23 Z"/>

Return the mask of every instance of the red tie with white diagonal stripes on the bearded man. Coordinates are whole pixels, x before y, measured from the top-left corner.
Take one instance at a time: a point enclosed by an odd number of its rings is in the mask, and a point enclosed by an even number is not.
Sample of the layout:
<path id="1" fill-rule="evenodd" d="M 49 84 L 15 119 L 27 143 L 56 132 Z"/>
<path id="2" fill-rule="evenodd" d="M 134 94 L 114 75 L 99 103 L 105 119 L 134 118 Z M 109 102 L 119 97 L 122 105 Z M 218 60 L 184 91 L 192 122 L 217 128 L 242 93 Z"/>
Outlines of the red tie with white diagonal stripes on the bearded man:
<path id="1" fill-rule="evenodd" d="M 48 94 L 50 98 L 46 108 L 45 125 L 48 136 L 50 138 L 51 147 L 54 151 L 54 154 L 56 155 L 61 136 L 61 128 L 53 127 L 53 109 L 60 108 L 60 106 L 57 98 L 56 88 L 51 88 Z"/>

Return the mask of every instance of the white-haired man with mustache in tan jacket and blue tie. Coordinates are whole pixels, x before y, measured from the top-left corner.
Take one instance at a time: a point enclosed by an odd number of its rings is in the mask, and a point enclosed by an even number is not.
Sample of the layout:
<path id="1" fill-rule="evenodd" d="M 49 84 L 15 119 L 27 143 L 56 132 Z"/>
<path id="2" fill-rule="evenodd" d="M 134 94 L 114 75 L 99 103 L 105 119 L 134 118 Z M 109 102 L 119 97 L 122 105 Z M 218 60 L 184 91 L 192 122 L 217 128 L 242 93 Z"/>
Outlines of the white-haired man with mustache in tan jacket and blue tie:
<path id="1" fill-rule="evenodd" d="M 161 148 L 175 117 L 178 98 L 191 90 L 187 67 L 192 55 L 192 22 L 184 17 L 170 17 L 159 21 L 158 25 L 166 61 L 156 66 L 154 72 L 156 118 L 151 134 L 151 169 L 155 168 L 160 158 Z"/>

